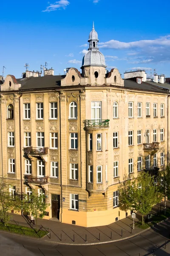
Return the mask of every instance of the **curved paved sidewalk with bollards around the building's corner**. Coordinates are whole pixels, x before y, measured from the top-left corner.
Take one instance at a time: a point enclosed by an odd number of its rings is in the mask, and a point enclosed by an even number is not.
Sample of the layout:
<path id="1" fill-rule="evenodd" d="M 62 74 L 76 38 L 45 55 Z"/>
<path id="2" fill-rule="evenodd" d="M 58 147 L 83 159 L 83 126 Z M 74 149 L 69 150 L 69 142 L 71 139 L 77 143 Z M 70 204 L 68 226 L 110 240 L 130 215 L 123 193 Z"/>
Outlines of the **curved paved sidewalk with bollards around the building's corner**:
<path id="1" fill-rule="evenodd" d="M 19 222 L 19 225 L 27 227 L 29 224 L 28 218 L 22 215 L 11 213 L 11 220 L 16 221 L 17 223 Z M 136 218 L 135 222 L 137 221 L 139 220 Z M 14 224 L 13 221 L 12 223 Z M 37 224 L 38 226 L 49 229 L 50 231 L 47 236 L 41 239 L 42 241 L 51 241 L 57 244 L 65 245 L 111 243 L 113 241 L 129 239 L 130 237 L 146 231 L 137 227 L 135 227 L 133 230 L 133 219 L 131 216 L 128 216 L 120 221 L 116 221 L 110 225 L 100 227 L 80 227 L 45 219 L 38 219 Z"/>

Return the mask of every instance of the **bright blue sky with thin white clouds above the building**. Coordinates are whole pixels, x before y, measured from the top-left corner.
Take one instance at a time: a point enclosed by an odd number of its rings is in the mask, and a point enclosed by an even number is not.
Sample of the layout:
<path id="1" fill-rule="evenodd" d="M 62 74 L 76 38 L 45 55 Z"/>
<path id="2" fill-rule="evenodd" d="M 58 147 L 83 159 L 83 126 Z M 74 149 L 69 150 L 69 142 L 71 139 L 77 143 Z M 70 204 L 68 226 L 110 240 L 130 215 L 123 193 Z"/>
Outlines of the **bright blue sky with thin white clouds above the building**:
<path id="1" fill-rule="evenodd" d="M 0 75 L 21 78 L 26 63 L 54 74 L 79 71 L 93 21 L 107 70 L 144 69 L 170 77 L 169 0 L 2 0 Z"/>

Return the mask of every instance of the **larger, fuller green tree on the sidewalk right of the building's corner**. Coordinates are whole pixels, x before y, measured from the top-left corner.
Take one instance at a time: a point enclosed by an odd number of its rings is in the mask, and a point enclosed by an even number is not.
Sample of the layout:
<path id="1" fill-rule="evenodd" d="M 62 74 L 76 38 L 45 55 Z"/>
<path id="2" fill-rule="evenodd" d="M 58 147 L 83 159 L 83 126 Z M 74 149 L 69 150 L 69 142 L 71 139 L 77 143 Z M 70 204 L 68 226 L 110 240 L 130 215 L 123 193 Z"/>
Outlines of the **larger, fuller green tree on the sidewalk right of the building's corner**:
<path id="1" fill-rule="evenodd" d="M 133 209 L 142 213 L 142 225 L 144 214 L 151 211 L 153 205 L 159 202 L 158 187 L 154 183 L 154 177 L 147 172 L 142 172 L 133 186 Z"/>

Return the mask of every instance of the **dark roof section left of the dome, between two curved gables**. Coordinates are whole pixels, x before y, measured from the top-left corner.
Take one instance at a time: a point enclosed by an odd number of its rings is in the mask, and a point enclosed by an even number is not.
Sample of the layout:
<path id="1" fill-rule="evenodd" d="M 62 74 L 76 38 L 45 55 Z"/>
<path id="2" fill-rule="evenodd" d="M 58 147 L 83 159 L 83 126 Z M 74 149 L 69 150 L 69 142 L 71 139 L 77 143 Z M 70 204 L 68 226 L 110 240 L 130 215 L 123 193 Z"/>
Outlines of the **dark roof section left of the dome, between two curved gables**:
<path id="1" fill-rule="evenodd" d="M 63 76 L 40 76 L 40 77 L 29 77 L 24 79 L 17 79 L 17 82 L 21 84 L 19 90 L 33 90 L 33 89 L 48 89 L 60 87 L 61 80 L 65 78 Z"/>

